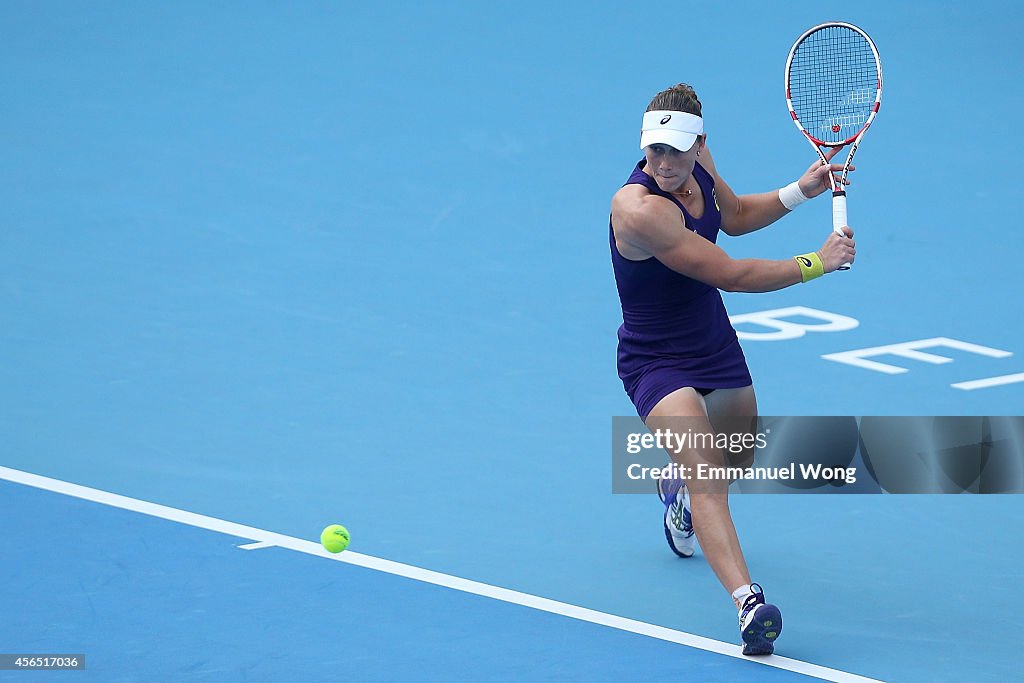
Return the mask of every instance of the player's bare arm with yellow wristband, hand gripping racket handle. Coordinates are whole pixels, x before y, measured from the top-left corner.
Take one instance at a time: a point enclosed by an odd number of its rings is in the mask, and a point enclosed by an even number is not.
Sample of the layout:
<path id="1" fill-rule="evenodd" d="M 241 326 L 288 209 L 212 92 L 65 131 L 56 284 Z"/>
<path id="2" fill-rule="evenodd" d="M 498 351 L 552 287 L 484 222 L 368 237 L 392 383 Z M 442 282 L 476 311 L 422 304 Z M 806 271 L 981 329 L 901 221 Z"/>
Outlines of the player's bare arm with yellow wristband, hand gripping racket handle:
<path id="1" fill-rule="evenodd" d="M 676 272 L 726 292 L 772 292 L 801 282 L 795 259 L 730 258 L 720 247 L 686 228 L 672 202 L 638 185 L 628 185 L 615 195 L 611 223 L 618 250 L 627 258 L 653 256 Z M 853 262 L 853 230 L 846 230 L 846 237 L 830 233 L 818 250 L 824 272 Z"/>

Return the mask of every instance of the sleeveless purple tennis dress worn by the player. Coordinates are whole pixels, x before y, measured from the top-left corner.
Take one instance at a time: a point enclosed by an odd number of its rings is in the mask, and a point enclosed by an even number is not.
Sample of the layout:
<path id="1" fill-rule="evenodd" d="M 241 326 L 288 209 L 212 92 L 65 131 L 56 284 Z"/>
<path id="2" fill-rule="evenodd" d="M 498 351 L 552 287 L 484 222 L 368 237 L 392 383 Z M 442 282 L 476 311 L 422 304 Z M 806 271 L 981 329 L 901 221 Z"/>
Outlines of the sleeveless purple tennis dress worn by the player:
<path id="1" fill-rule="evenodd" d="M 641 160 L 626 184 L 639 184 L 673 202 L 688 229 L 712 243 L 718 239 L 722 213 L 715 181 L 700 164 L 693 177 L 705 197 L 705 213 L 694 218 L 675 197 L 663 191 L 643 171 Z M 623 306 L 618 328 L 618 377 L 637 413 L 646 419 L 657 401 L 682 387 L 701 393 L 750 385 L 751 373 L 736 332 L 717 288 L 687 278 L 656 258 L 631 261 L 618 253 L 608 222 L 611 265 Z"/>

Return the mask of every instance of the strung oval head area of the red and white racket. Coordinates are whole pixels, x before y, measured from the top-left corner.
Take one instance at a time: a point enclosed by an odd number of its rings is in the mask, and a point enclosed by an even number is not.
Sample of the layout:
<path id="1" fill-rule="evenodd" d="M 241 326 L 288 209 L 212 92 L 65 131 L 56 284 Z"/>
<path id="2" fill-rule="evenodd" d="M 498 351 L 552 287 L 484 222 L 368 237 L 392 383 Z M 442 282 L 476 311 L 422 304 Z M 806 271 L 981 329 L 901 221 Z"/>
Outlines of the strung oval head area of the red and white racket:
<path id="1" fill-rule="evenodd" d="M 794 51 L 788 86 L 804 130 L 826 143 L 850 139 L 867 123 L 878 95 L 870 43 L 846 27 L 815 31 Z"/>

